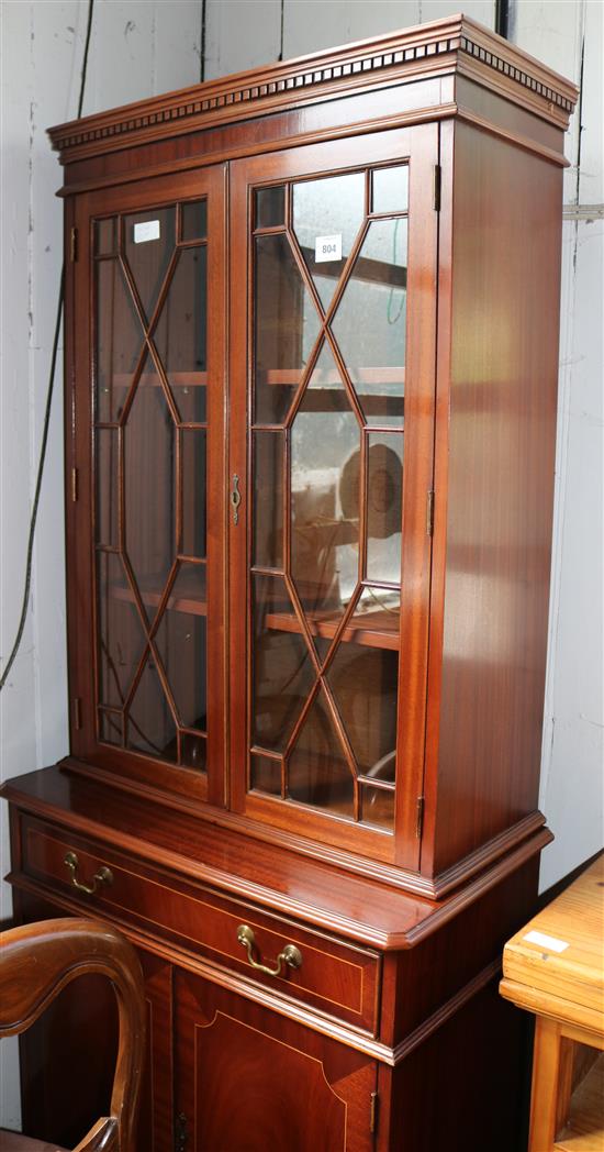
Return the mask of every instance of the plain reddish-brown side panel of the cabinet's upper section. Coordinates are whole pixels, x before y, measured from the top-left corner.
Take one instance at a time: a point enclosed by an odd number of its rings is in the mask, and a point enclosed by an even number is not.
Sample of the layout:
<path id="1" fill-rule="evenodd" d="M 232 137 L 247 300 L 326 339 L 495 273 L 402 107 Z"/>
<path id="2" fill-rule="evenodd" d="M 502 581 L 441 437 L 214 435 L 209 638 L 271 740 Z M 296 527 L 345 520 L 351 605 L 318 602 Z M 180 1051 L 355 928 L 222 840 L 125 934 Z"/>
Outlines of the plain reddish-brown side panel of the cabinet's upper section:
<path id="1" fill-rule="evenodd" d="M 456 127 L 435 872 L 537 804 L 561 195 L 561 168 Z"/>

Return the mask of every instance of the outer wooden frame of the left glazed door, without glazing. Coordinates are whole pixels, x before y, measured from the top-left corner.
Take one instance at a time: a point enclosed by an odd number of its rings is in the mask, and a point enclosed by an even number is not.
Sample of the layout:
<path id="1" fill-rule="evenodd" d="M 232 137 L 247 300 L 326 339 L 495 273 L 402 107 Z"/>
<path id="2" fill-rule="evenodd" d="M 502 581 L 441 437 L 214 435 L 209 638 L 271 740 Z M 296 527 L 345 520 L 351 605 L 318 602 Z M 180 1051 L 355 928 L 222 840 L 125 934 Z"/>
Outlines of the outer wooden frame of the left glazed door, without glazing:
<path id="1" fill-rule="evenodd" d="M 71 755 L 140 786 L 223 806 L 225 787 L 224 458 L 225 458 L 225 204 L 227 168 L 215 165 L 132 181 L 78 196 L 67 206 L 66 232 L 77 229 L 77 260 L 67 264 L 66 508 L 68 662 Z M 93 221 L 117 213 L 207 198 L 207 772 L 173 765 L 99 740 L 94 576 L 95 286 Z M 142 335 L 143 343 L 143 335 Z M 76 470 L 75 472 L 72 470 Z M 76 499 L 74 499 L 76 497 Z"/>

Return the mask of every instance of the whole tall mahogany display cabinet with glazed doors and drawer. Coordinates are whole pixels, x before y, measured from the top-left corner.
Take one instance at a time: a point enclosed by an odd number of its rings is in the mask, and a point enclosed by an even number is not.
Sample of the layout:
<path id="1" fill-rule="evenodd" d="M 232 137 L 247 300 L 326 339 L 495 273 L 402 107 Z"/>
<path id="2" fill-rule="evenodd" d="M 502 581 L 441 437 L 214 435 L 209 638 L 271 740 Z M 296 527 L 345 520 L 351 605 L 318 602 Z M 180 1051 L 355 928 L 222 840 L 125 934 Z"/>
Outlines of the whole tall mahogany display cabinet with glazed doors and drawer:
<path id="1" fill-rule="evenodd" d="M 456 16 L 51 131 L 71 743 L 10 882 L 140 952 L 140 1152 L 521 1146 L 576 94 Z M 68 1144 L 114 1022 L 63 998 Z"/>

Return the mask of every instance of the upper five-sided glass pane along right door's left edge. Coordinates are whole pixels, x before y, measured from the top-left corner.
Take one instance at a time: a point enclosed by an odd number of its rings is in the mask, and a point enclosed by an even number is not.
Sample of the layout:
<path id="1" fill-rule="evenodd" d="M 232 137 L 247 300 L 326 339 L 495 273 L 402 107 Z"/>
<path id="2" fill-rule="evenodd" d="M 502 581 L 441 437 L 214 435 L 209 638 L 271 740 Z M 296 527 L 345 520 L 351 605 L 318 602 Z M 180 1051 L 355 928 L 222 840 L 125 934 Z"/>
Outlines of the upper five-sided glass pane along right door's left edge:
<path id="1" fill-rule="evenodd" d="M 255 423 L 283 424 L 319 335 L 319 316 L 284 235 L 255 240 Z"/>

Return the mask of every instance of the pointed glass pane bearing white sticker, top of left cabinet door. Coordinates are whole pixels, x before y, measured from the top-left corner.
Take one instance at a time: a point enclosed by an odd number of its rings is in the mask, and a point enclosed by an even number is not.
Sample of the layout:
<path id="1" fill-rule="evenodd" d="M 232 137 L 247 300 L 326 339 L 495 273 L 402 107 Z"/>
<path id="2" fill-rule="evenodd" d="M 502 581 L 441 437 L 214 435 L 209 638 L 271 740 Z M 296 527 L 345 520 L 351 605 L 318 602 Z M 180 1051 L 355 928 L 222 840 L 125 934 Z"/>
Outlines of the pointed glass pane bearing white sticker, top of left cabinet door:
<path id="1" fill-rule="evenodd" d="M 175 244 L 175 209 L 150 209 L 124 217 L 125 257 L 143 311 L 151 320 Z"/>

